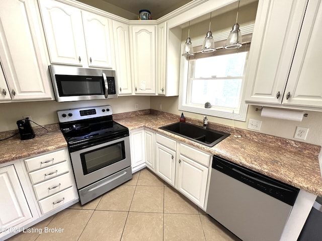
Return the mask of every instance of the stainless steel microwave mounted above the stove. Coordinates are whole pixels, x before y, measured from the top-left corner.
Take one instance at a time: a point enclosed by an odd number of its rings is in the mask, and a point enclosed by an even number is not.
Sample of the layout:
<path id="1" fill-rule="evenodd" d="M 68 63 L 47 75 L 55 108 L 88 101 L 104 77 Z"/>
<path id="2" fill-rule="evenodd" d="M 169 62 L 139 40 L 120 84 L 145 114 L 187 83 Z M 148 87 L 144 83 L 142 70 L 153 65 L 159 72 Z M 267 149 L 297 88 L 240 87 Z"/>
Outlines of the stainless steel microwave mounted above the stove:
<path id="1" fill-rule="evenodd" d="M 115 70 L 49 65 L 58 102 L 117 98 Z"/>

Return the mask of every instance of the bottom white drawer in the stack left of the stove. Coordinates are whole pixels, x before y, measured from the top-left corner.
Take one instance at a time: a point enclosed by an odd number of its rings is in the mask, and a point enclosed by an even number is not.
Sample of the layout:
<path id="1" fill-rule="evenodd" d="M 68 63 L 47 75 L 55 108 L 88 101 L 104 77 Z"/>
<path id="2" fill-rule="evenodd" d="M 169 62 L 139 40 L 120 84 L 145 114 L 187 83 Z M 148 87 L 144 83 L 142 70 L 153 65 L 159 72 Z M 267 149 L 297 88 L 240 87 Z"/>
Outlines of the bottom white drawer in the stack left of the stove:
<path id="1" fill-rule="evenodd" d="M 44 214 L 74 199 L 75 199 L 74 189 L 73 187 L 70 187 L 66 190 L 58 192 L 50 197 L 47 197 L 39 201 L 39 206 L 42 213 Z"/>

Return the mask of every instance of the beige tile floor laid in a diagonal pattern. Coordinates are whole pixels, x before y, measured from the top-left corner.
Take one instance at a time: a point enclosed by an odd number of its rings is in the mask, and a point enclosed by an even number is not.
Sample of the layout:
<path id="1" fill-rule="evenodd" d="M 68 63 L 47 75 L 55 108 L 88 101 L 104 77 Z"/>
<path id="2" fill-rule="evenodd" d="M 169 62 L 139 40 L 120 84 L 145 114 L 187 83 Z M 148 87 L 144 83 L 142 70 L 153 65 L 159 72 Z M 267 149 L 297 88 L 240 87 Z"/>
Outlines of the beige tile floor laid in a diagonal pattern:
<path id="1" fill-rule="evenodd" d="M 19 233 L 8 240 L 240 240 L 148 169 L 33 227 L 42 231 Z M 63 230 L 49 233 L 45 227 Z"/>

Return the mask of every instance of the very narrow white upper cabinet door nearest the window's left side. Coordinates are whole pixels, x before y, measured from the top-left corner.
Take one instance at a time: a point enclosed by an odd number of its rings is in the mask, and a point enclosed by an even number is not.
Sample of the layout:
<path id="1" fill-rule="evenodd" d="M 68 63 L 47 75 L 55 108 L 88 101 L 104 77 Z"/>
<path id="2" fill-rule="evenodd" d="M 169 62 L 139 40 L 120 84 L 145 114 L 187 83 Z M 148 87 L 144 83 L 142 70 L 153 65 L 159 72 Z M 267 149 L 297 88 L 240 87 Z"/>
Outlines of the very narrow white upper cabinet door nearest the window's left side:
<path id="1" fill-rule="evenodd" d="M 157 94 L 166 95 L 167 22 L 157 26 Z"/>

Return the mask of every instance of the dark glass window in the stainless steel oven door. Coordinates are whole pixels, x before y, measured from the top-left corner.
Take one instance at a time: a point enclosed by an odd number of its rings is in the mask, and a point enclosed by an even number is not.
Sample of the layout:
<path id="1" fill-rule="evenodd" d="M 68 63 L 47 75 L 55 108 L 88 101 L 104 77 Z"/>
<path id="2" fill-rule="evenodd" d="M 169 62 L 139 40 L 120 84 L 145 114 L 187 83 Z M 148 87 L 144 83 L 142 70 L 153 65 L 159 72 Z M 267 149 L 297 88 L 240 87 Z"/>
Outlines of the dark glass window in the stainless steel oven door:
<path id="1" fill-rule="evenodd" d="M 124 141 L 81 154 L 84 175 L 125 159 Z"/>

